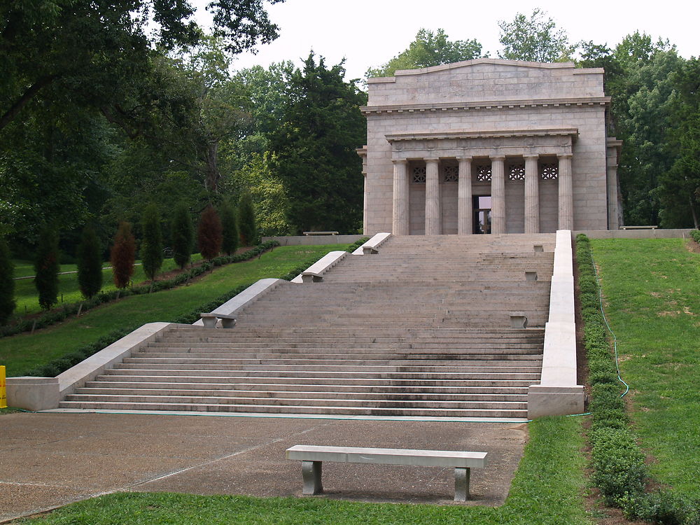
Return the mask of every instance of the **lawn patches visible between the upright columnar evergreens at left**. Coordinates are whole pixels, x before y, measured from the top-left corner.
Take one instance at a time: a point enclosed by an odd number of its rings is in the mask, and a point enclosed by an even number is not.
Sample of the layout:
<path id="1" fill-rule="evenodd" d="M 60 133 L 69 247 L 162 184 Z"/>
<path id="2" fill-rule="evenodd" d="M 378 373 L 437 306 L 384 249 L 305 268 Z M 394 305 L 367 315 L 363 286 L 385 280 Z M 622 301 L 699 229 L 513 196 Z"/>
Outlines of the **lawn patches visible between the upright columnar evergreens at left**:
<path id="1" fill-rule="evenodd" d="M 195 253 L 192 255 L 193 261 L 201 260 L 202 255 Z M 141 261 L 137 261 L 141 262 Z M 109 266 L 109 262 L 105 262 L 104 266 Z M 161 272 L 169 272 L 176 269 L 177 265 L 174 260 L 166 259 L 163 261 Z M 61 265 L 61 272 L 73 272 L 76 270 L 76 265 Z M 34 266 L 30 262 L 15 261 L 15 277 L 34 275 Z M 141 265 L 134 267 L 134 283 L 148 281 L 144 275 L 144 269 Z M 102 270 L 102 290 L 116 290 L 116 286 L 112 281 L 112 270 Z M 63 297 L 64 302 L 78 302 L 83 298 L 78 288 L 78 274 L 67 274 L 58 276 L 58 300 L 59 304 Z M 36 295 L 36 287 L 34 279 L 18 279 L 15 281 L 15 299 L 17 300 L 17 308 L 15 315 L 33 314 L 41 311 L 39 307 L 38 296 Z"/>

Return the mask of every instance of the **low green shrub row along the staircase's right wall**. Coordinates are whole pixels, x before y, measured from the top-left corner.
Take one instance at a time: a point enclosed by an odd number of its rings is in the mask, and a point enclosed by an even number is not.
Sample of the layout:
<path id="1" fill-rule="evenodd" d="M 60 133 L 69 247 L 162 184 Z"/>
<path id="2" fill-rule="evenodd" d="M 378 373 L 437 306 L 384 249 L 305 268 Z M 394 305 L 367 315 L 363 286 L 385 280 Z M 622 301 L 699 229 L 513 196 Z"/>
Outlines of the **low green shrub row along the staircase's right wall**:
<path id="1" fill-rule="evenodd" d="M 588 357 L 592 414 L 589 442 L 593 482 L 607 505 L 631 519 L 652 523 L 700 525 L 700 502 L 671 491 L 647 493 L 645 456 L 629 426 L 615 356 L 599 308 L 598 282 L 588 237 L 577 235 L 576 258 Z"/>

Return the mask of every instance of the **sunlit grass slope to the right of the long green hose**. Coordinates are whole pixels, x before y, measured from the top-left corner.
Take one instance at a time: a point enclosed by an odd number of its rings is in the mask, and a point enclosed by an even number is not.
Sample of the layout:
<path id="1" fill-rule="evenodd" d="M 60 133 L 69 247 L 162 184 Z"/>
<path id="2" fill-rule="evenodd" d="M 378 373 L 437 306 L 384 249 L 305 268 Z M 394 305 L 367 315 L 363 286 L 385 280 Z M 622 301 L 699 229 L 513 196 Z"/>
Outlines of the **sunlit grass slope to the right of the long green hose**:
<path id="1" fill-rule="evenodd" d="M 652 475 L 700 497 L 700 254 L 682 239 L 591 244 Z"/>

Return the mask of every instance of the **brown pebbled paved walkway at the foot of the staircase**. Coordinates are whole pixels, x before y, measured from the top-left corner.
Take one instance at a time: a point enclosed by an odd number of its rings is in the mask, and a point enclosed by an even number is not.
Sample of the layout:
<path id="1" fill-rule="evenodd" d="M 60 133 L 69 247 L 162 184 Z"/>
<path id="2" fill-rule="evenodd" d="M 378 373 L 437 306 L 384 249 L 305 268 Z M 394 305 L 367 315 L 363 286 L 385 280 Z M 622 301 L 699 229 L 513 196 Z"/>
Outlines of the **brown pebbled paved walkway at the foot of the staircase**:
<path id="1" fill-rule="evenodd" d="M 500 505 L 522 423 L 358 421 L 148 414 L 0 416 L 0 521 L 113 491 L 301 496 L 293 444 L 487 451 L 470 505 Z M 453 504 L 451 468 L 328 463 L 325 497 Z"/>

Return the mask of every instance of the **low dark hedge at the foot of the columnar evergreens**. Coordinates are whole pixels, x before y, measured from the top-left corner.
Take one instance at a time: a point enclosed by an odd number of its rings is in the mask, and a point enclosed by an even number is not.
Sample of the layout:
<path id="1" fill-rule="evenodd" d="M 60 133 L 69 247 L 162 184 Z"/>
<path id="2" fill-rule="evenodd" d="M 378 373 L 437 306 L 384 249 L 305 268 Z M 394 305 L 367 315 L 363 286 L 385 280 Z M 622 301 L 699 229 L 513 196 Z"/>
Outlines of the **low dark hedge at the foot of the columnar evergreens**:
<path id="1" fill-rule="evenodd" d="M 44 314 L 36 318 L 24 318 L 18 323 L 11 325 L 5 325 L 0 327 L 0 337 L 6 337 L 8 335 L 15 335 L 22 332 L 29 332 L 32 329 L 46 328 L 54 323 L 59 323 L 69 316 L 78 314 L 78 311 L 87 311 L 94 307 L 104 304 L 106 302 L 111 302 L 116 300 L 118 297 L 127 297 L 128 295 L 141 295 L 144 293 L 158 292 L 160 290 L 168 290 L 169 288 L 174 288 L 176 286 L 181 286 L 187 283 L 190 279 L 200 276 L 205 272 L 209 272 L 210 269 L 228 265 L 232 262 L 242 262 L 244 260 L 252 259 L 260 253 L 279 246 L 277 241 L 267 241 L 255 248 L 239 253 L 238 255 L 221 255 L 212 260 L 202 261 L 200 265 L 193 266 L 185 272 L 181 272 L 172 279 L 164 279 L 162 281 L 155 281 L 153 285 L 146 284 L 144 286 L 132 286 L 131 288 L 125 288 L 124 290 L 110 290 L 109 292 L 99 292 L 94 295 L 91 299 L 86 299 L 80 302 L 73 302 L 69 304 L 64 304 L 62 307 L 51 309 Z M 82 305 L 82 306 L 81 306 Z"/>

